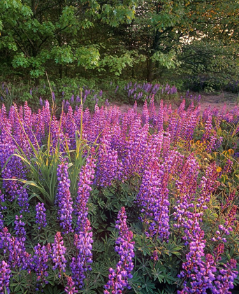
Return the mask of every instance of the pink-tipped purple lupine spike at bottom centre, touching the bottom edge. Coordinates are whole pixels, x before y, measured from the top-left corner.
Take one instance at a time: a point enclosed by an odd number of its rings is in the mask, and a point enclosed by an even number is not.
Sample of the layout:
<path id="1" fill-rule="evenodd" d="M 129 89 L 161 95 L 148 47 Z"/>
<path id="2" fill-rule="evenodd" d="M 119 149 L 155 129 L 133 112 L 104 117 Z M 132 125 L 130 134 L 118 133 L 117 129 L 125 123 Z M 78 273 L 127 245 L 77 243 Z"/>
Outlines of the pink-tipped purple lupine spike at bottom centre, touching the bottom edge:
<path id="1" fill-rule="evenodd" d="M 117 262 L 116 270 L 109 269 L 109 281 L 105 285 L 104 294 L 119 294 L 124 288 L 130 289 L 128 279 L 132 278 L 131 271 L 133 270 L 134 258 L 134 241 L 133 232 L 129 230 L 126 224 L 126 212 L 122 207 L 118 213 L 115 228 L 119 230 L 119 237 L 116 240 L 115 251 L 119 254 L 120 260 Z"/>

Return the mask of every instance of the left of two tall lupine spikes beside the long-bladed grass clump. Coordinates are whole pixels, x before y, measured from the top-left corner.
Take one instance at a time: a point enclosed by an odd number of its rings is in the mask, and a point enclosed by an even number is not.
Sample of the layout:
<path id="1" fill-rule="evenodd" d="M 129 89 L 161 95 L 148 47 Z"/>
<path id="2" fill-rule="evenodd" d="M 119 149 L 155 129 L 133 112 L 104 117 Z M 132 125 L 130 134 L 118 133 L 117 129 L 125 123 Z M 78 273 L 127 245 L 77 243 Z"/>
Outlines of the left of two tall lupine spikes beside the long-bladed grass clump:
<path id="1" fill-rule="evenodd" d="M 61 162 L 57 167 L 57 179 L 58 192 L 57 192 L 57 202 L 58 202 L 58 219 L 60 221 L 61 227 L 64 229 L 62 234 L 68 234 L 73 232 L 72 228 L 72 212 L 73 212 L 73 201 L 71 199 L 70 185 L 71 181 L 68 179 L 68 163 Z"/>

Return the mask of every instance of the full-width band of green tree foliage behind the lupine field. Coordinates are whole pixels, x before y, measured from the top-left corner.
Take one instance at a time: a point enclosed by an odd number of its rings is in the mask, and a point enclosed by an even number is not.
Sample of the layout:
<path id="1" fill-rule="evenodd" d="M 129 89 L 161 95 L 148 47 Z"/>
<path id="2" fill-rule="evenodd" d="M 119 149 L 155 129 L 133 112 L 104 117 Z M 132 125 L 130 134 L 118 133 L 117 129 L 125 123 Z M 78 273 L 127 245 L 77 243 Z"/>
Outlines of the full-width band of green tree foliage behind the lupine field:
<path id="1" fill-rule="evenodd" d="M 2 0 L 0 61 L 32 78 L 237 78 L 238 15 L 234 0 Z"/>

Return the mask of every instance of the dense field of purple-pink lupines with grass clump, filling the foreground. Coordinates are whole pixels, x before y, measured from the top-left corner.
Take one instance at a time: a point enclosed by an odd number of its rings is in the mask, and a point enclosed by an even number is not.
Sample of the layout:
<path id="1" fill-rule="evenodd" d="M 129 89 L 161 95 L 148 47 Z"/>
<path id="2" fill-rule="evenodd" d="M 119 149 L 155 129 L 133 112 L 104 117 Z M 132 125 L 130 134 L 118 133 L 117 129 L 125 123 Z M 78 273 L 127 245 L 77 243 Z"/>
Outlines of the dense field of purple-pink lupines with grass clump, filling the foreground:
<path id="1" fill-rule="evenodd" d="M 0 293 L 237 293 L 238 133 L 238 106 L 154 94 L 3 104 Z"/>

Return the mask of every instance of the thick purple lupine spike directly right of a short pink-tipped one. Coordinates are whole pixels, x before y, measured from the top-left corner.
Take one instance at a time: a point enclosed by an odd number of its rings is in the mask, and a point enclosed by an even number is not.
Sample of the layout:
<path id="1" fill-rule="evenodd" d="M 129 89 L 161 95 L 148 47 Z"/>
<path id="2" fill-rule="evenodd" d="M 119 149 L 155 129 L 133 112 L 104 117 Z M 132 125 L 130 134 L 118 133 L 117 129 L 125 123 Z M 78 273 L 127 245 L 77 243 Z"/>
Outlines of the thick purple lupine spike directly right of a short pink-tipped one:
<path id="1" fill-rule="evenodd" d="M 92 228 L 88 218 L 85 219 L 84 224 L 82 225 L 82 231 L 79 234 L 75 234 L 74 244 L 76 247 L 76 257 L 72 258 L 71 261 L 71 272 L 72 278 L 78 288 L 84 286 L 84 279 L 87 270 L 92 270 Z"/>

